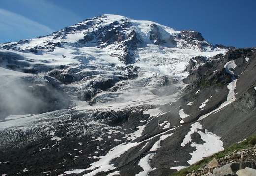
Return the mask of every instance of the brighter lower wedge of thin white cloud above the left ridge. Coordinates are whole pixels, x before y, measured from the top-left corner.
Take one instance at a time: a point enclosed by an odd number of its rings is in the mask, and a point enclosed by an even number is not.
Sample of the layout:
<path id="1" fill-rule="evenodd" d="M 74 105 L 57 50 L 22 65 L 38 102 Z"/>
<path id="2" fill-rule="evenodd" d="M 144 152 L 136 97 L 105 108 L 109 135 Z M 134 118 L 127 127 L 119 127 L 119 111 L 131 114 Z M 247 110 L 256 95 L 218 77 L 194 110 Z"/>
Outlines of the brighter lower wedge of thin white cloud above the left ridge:
<path id="1" fill-rule="evenodd" d="M 27 38 L 35 38 L 54 32 L 53 29 L 30 20 L 22 15 L 0 8 L 0 42 L 11 42 Z"/>

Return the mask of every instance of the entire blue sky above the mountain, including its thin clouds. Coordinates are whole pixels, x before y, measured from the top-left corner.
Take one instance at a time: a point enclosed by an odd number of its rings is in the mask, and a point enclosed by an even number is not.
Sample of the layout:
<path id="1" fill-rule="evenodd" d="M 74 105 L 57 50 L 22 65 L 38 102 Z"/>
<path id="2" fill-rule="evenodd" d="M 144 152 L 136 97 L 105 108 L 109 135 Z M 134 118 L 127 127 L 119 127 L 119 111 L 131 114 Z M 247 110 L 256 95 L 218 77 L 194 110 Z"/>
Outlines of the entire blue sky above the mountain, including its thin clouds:
<path id="1" fill-rule="evenodd" d="M 213 45 L 256 47 L 256 0 L 0 0 L 0 43 L 48 35 L 102 14 L 195 30 Z"/>

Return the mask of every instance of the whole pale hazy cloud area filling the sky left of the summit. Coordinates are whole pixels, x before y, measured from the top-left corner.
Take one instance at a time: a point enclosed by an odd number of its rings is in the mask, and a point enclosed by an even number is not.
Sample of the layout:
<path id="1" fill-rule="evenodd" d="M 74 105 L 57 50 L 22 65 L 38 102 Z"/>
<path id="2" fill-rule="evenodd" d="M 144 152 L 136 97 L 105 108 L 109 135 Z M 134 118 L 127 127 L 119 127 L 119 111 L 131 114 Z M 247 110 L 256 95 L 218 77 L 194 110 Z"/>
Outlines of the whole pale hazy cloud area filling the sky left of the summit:
<path id="1" fill-rule="evenodd" d="M 83 19 L 47 0 L 2 0 L 0 43 L 49 35 Z"/>

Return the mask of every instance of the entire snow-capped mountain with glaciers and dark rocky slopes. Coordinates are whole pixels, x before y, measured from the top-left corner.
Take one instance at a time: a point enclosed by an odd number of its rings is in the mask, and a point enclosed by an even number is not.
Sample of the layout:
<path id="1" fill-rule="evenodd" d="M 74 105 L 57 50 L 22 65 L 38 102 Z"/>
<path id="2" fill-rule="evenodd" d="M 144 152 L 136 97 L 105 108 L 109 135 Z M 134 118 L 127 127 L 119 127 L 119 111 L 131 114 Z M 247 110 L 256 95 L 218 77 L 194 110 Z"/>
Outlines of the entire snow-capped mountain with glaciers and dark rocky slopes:
<path id="1" fill-rule="evenodd" d="M 0 44 L 0 173 L 186 167 L 256 132 L 255 56 L 118 15 Z"/>

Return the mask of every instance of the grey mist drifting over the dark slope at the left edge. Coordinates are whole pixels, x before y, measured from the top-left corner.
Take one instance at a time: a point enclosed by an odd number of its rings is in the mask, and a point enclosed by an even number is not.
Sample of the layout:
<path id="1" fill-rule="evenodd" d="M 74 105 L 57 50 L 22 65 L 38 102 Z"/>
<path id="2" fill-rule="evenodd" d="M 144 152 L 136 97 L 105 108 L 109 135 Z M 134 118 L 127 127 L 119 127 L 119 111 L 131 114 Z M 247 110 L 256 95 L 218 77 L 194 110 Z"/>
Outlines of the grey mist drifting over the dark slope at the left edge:
<path id="1" fill-rule="evenodd" d="M 33 76 L 0 77 L 0 120 L 9 115 L 40 114 L 70 106 L 69 96 L 47 80 Z"/>

